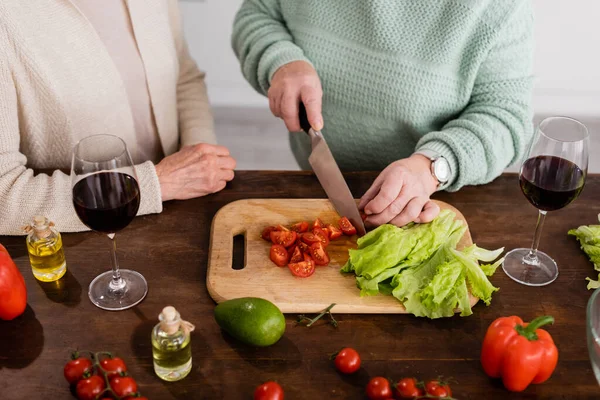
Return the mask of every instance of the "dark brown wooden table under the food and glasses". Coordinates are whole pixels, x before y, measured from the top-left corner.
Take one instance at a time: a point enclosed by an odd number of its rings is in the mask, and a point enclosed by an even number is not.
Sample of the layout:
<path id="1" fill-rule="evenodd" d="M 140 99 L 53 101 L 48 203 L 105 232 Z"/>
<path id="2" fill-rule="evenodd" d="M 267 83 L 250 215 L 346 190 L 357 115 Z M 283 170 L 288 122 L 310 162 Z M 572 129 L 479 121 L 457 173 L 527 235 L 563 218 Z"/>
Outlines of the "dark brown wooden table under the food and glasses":
<path id="1" fill-rule="evenodd" d="M 359 196 L 374 173 L 348 175 Z M 0 398 L 72 398 L 62 376 L 71 349 L 110 350 L 123 357 L 143 394 L 151 399 L 251 399 L 254 388 L 277 380 L 286 399 L 363 399 L 369 377 L 421 379 L 452 376 L 459 399 L 598 399 L 585 339 L 586 276 L 593 267 L 567 230 L 595 223 L 600 212 L 600 176 L 590 176 L 581 197 L 550 213 L 541 250 L 558 262 L 560 275 L 547 287 L 510 280 L 501 269 L 492 282 L 501 288 L 490 307 L 474 314 L 427 320 L 410 315 L 336 315 L 337 329 L 326 324 L 295 326 L 287 316 L 285 336 L 274 346 L 254 349 L 224 336 L 213 319 L 206 290 L 211 219 L 225 204 L 243 198 L 322 198 L 313 175 L 291 172 L 239 172 L 222 193 L 170 202 L 160 215 L 138 217 L 117 235 L 122 267 L 141 272 L 149 294 L 134 309 L 107 312 L 87 297 L 89 282 L 109 269 L 108 240 L 95 233 L 65 234 L 68 274 L 57 284 L 32 276 L 23 237 L 0 237 L 21 269 L 28 288 L 25 314 L 0 321 Z M 521 194 L 517 177 L 504 175 L 484 187 L 436 196 L 467 218 L 474 241 L 486 248 L 512 249 L 530 244 L 536 210 Z M 335 288 L 332 288 L 335 290 Z M 152 369 L 150 331 L 160 310 L 171 304 L 196 324 L 193 370 L 183 381 L 166 383 Z M 479 363 L 488 325 L 497 317 L 542 314 L 556 318 L 548 328 L 560 351 L 552 378 L 521 394 L 510 394 L 489 379 Z M 356 348 L 361 371 L 340 376 L 328 356 L 340 346 Z"/>

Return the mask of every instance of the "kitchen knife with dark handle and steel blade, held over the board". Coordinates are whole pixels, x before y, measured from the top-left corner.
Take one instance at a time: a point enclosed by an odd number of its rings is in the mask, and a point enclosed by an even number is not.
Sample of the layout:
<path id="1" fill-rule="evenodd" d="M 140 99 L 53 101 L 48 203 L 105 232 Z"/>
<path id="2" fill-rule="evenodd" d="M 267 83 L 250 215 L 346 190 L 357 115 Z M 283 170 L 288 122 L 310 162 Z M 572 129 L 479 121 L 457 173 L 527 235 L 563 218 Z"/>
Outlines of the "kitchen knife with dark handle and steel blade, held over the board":
<path id="1" fill-rule="evenodd" d="M 366 233 L 365 224 L 360 217 L 354 196 L 352 196 L 352 192 L 342 175 L 342 171 L 335 162 L 325 138 L 321 132 L 315 131 L 310 126 L 306 108 L 304 108 L 302 102 L 299 105 L 299 117 L 302 130 L 310 136 L 312 151 L 308 157 L 308 162 L 313 172 L 338 214 L 348 218 L 352 225 L 356 227 L 356 233 L 363 236 Z"/>

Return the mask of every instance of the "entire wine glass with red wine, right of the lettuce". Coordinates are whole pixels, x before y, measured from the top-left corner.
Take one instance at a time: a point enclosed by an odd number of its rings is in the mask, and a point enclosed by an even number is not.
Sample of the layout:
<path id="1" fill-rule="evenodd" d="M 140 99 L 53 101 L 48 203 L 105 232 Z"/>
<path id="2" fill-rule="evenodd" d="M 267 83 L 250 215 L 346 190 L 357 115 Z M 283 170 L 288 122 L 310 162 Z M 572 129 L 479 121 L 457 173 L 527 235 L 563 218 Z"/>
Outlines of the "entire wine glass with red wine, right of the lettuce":
<path id="1" fill-rule="evenodd" d="M 513 280 L 529 286 L 544 286 L 558 277 L 556 262 L 538 250 L 548 211 L 559 210 L 575 200 L 585 184 L 589 134 L 585 125 L 567 117 L 551 117 L 538 126 L 519 182 L 527 200 L 538 209 L 531 248 L 506 254 L 502 269 Z"/>

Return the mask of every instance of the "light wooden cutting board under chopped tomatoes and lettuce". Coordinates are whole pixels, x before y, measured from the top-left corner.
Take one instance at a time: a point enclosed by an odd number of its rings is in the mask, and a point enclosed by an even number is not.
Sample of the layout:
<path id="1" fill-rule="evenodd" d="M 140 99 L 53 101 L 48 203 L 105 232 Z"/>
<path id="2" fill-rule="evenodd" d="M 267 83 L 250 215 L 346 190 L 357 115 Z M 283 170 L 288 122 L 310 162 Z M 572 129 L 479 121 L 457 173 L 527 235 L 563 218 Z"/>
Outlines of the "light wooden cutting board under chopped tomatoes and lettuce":
<path id="1" fill-rule="evenodd" d="M 464 216 L 447 203 L 439 206 Z M 404 314 L 406 310 L 393 296 L 360 297 L 354 275 L 340 274 L 348 260 L 348 249 L 356 248 L 356 239 L 347 236 L 327 247 L 331 263 L 309 278 L 297 278 L 287 267 L 277 267 L 269 259 L 270 243 L 261 238 L 269 225 L 289 226 L 299 221 L 337 223 L 339 216 L 324 199 L 252 199 L 230 203 L 213 219 L 208 258 L 207 287 L 210 296 L 220 303 L 239 297 L 262 297 L 276 304 L 284 313 L 314 313 L 336 303 L 338 313 Z M 244 268 L 233 269 L 233 237 L 244 235 Z M 467 230 L 458 249 L 471 245 Z M 471 296 L 471 305 L 477 303 Z"/>

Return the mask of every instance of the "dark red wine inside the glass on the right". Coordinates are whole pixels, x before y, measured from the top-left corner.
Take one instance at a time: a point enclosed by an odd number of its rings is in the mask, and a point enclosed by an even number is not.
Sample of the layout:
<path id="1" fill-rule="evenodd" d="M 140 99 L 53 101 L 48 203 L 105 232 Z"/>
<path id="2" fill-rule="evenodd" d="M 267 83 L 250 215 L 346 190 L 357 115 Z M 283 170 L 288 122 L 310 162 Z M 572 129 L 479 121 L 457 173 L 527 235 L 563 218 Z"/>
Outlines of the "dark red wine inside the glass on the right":
<path id="1" fill-rule="evenodd" d="M 554 211 L 579 196 L 585 172 L 564 158 L 537 156 L 525 161 L 519 181 L 531 204 L 542 211 Z"/>

